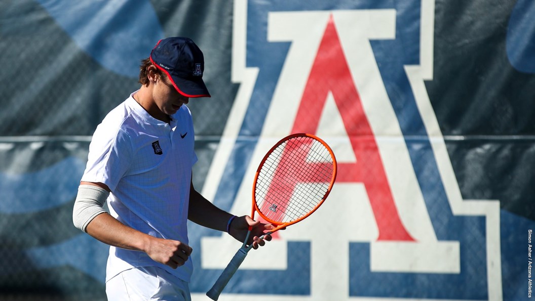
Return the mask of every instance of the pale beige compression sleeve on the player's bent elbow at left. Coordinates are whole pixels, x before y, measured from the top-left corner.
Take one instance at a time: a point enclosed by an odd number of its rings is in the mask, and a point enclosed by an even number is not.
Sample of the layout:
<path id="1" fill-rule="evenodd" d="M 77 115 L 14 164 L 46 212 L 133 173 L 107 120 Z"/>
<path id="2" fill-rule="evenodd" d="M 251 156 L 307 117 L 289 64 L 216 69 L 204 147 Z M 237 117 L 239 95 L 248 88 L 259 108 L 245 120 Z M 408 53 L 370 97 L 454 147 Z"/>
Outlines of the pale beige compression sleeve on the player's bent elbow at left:
<path id="1" fill-rule="evenodd" d="M 92 185 L 80 185 L 74 201 L 72 221 L 78 229 L 87 232 L 87 225 L 98 214 L 105 213 L 102 208 L 110 192 Z"/>

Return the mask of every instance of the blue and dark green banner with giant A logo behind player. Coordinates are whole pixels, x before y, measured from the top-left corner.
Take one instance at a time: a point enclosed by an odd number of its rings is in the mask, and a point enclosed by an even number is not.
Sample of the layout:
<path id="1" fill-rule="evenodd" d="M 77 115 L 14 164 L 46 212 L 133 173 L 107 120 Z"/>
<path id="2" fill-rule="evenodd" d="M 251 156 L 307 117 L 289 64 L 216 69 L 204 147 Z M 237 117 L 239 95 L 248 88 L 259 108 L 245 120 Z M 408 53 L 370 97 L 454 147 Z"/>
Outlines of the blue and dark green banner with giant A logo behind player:
<path id="1" fill-rule="evenodd" d="M 188 36 L 194 184 L 250 212 L 291 133 L 339 162 L 327 202 L 251 252 L 220 300 L 523 300 L 535 236 L 535 3 L 0 0 L 0 299 L 105 300 L 72 225 L 96 126 L 156 42 Z M 189 223 L 194 300 L 240 243 Z"/>

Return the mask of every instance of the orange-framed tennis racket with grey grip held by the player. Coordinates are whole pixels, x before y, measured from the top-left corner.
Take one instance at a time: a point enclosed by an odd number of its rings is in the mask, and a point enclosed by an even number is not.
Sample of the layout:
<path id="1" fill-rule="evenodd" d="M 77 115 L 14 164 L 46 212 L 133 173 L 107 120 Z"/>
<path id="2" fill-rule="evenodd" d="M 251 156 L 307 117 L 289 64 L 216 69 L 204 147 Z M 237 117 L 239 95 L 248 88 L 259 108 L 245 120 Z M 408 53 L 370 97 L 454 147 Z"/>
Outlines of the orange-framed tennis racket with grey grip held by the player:
<path id="1" fill-rule="evenodd" d="M 276 226 L 272 233 L 307 218 L 327 198 L 337 174 L 337 161 L 331 148 L 311 134 L 292 134 L 282 138 L 266 153 L 255 174 L 253 209 Z M 219 279 L 207 292 L 217 300 L 228 281 L 238 271 L 249 250 L 251 228 Z"/>

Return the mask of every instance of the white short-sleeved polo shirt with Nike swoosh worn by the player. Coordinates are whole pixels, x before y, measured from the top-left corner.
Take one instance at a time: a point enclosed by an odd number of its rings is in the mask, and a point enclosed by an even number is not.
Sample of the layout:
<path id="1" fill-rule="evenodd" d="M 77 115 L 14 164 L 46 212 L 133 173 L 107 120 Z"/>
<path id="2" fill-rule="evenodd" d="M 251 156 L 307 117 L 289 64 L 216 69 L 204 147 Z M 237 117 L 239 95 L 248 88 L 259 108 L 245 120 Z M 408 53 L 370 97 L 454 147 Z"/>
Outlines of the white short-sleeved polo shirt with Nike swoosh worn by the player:
<path id="1" fill-rule="evenodd" d="M 189 189 L 197 161 L 191 112 L 182 105 L 167 124 L 151 117 L 134 93 L 95 130 L 82 181 L 110 188 L 110 213 L 125 225 L 187 244 Z M 191 258 L 172 269 L 144 252 L 111 246 L 106 281 L 139 266 L 159 266 L 187 282 L 193 272 Z"/>

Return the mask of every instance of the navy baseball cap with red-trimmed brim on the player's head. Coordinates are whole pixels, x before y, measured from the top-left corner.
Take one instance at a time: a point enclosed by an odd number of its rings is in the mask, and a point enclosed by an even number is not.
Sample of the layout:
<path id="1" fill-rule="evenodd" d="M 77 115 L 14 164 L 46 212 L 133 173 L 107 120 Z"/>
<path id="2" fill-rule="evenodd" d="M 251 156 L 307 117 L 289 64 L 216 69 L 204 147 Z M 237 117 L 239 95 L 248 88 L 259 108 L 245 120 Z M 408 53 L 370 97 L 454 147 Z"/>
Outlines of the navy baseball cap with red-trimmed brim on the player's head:
<path id="1" fill-rule="evenodd" d="M 204 56 L 187 37 L 168 37 L 158 41 L 150 61 L 167 75 L 177 91 L 186 97 L 210 97 L 202 74 Z"/>

